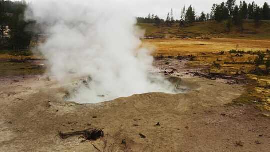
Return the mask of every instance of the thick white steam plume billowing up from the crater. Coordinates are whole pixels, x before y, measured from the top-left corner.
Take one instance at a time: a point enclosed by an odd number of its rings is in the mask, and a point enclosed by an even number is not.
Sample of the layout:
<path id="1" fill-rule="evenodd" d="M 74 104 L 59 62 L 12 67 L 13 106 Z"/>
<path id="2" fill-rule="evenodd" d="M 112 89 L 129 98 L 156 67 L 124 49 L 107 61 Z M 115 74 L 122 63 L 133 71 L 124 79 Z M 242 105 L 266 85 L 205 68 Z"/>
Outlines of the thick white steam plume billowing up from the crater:
<path id="1" fill-rule="evenodd" d="M 173 93 L 168 81 L 149 74 L 153 58 L 140 48 L 142 32 L 121 0 L 35 0 L 26 14 L 49 35 L 39 49 L 51 65 L 50 74 L 61 82 L 92 78 L 73 100 L 96 103 L 146 92 Z"/>

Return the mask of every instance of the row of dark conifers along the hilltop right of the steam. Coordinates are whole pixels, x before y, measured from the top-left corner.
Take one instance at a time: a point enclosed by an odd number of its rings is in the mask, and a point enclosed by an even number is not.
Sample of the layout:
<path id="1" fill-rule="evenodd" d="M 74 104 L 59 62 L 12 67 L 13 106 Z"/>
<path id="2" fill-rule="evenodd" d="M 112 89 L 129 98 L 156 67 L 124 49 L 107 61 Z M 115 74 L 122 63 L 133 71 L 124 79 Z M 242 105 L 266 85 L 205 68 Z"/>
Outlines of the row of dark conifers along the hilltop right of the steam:
<path id="1" fill-rule="evenodd" d="M 267 2 L 262 7 L 255 2 L 247 4 L 245 1 L 240 1 L 237 5 L 235 0 L 227 0 L 220 4 L 213 4 L 210 13 L 201 12 L 196 15 L 195 8 L 191 5 L 186 9 L 185 6 L 181 10 L 180 20 L 174 20 L 173 11 L 168 13 L 166 20 L 159 19 L 157 15 L 149 14 L 148 17 L 137 17 L 138 23 L 154 23 L 160 25 L 164 23 L 170 26 L 172 23 L 192 23 L 196 21 L 215 20 L 218 22 L 226 21 L 229 24 L 241 25 L 244 19 L 253 19 L 258 23 L 260 20 L 270 20 L 270 7 Z"/>

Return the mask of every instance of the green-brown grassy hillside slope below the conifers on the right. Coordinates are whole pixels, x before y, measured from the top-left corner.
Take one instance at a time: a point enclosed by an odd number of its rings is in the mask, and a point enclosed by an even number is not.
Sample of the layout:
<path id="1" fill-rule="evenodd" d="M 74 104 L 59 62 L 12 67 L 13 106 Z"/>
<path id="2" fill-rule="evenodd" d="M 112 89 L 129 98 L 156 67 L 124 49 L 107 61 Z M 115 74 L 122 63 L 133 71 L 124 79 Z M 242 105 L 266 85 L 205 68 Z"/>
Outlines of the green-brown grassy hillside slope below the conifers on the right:
<path id="1" fill-rule="evenodd" d="M 243 31 L 233 25 L 231 31 L 226 30 L 224 22 L 195 22 L 186 27 L 179 27 L 174 24 L 172 27 L 157 27 L 154 24 L 138 23 L 142 29 L 145 29 L 145 36 L 164 36 L 168 38 L 182 37 L 222 37 L 222 38 L 240 38 L 240 39 L 270 39 L 270 21 L 261 21 L 261 24 L 255 25 L 253 20 L 245 20 Z"/>

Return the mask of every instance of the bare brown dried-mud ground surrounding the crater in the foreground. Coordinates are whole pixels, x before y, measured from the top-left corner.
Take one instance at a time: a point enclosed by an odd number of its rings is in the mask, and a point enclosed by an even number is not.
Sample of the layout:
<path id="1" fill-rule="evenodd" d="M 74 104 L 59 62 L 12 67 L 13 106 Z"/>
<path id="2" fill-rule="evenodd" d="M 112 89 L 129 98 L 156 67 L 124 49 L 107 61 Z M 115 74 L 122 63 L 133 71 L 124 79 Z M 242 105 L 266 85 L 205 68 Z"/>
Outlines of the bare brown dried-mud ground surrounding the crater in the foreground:
<path id="1" fill-rule="evenodd" d="M 0 151 L 269 151 L 270 119 L 254 105 L 228 105 L 244 85 L 182 80 L 196 87 L 76 104 L 63 100 L 65 86 L 44 76 L 1 77 Z M 102 128 L 104 137 L 57 135 L 89 127 Z"/>

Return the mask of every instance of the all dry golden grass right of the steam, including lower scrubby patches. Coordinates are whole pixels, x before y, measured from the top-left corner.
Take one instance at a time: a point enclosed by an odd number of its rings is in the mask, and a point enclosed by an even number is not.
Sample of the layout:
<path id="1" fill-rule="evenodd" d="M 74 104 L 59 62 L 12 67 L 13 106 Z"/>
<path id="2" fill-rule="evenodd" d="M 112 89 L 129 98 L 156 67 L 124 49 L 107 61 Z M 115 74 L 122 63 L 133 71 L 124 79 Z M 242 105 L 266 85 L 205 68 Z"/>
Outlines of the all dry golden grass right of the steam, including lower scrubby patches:
<path id="1" fill-rule="evenodd" d="M 235 39 L 235 38 L 188 38 L 188 39 L 143 39 L 142 45 L 150 48 L 154 56 L 194 56 L 194 60 L 185 64 L 189 69 L 197 69 L 205 73 L 221 75 L 244 74 L 246 81 L 246 93 L 237 98 L 237 102 L 250 103 L 259 100 L 262 104 L 257 107 L 270 111 L 270 77 L 268 75 L 250 74 L 256 68 L 257 54 L 229 53 L 230 50 L 262 51 L 270 48 L 270 40 L 267 39 Z M 223 54 L 220 52 L 224 51 Z M 265 59 L 269 57 L 265 53 Z M 217 67 L 217 65 L 219 67 Z M 265 66 L 260 66 L 265 70 Z M 249 73 L 249 74 L 248 74 Z M 251 79 L 251 80 L 250 80 Z"/>

